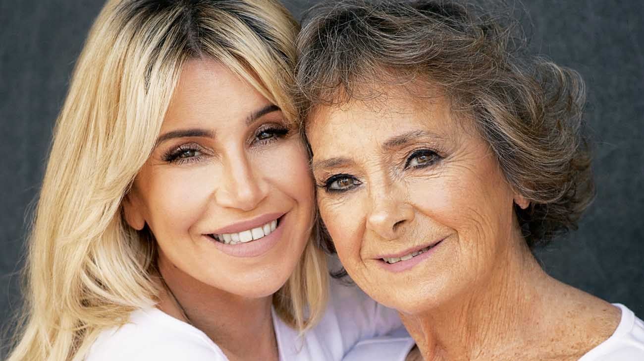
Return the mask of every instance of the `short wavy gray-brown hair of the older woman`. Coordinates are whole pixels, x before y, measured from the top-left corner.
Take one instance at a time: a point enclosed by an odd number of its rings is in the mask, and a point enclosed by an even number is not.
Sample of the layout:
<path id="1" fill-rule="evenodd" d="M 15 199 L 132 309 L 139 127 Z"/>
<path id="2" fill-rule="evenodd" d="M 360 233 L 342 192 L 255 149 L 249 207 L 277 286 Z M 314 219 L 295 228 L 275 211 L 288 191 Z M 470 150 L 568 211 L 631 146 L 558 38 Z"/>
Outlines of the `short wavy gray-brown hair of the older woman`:
<path id="1" fill-rule="evenodd" d="M 303 24 L 303 122 L 321 106 L 376 99 L 388 86 L 414 97 L 419 84 L 428 97 L 439 88 L 529 200 L 515 206 L 527 244 L 576 229 L 594 197 L 584 84 L 574 70 L 528 55 L 516 22 L 459 1 L 341 0 L 316 6 Z"/>

